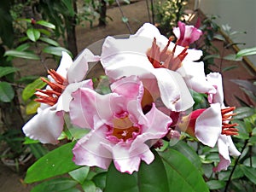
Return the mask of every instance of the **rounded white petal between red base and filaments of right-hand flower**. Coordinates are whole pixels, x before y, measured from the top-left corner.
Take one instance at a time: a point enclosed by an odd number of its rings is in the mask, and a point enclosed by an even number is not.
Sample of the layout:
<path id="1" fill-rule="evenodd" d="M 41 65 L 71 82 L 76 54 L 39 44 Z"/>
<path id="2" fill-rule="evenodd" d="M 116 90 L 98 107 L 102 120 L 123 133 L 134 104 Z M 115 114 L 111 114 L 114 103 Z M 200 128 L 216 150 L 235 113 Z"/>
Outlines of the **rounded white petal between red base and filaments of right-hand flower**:
<path id="1" fill-rule="evenodd" d="M 195 121 L 195 137 L 203 144 L 214 147 L 221 134 L 222 116 L 220 105 L 212 104 Z"/>

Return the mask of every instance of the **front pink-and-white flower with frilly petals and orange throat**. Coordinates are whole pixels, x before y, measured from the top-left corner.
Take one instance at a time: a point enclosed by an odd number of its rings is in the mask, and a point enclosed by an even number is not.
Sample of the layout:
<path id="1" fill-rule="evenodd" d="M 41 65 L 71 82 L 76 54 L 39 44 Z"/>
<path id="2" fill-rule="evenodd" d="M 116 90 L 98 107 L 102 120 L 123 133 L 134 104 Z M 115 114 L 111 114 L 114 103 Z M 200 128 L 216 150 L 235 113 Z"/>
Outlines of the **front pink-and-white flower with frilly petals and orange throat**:
<path id="1" fill-rule="evenodd" d="M 141 160 L 150 164 L 150 147 L 165 137 L 172 119 L 154 104 L 144 114 L 143 84 L 136 76 L 111 84 L 112 93 L 100 95 L 88 88 L 73 93 L 70 117 L 74 125 L 90 128 L 73 148 L 74 162 L 107 169 L 111 161 L 119 172 L 138 171 Z"/>

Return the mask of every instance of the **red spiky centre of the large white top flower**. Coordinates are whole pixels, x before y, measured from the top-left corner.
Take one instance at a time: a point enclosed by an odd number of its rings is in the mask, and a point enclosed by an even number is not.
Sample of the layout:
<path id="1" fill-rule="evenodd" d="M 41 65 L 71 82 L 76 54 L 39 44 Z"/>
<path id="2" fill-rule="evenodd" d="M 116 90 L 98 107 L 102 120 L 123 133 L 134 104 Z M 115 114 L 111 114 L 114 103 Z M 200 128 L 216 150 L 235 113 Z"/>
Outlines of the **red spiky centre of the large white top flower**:
<path id="1" fill-rule="evenodd" d="M 179 55 L 174 56 L 177 44 L 172 50 L 168 49 L 172 40 L 173 37 L 169 38 L 166 47 L 160 50 L 160 46 L 156 44 L 156 38 L 154 38 L 151 48 L 147 51 L 148 60 L 154 68 L 164 67 L 176 71 L 179 67 L 182 67 L 182 61 L 188 55 L 188 47 L 185 47 Z"/>

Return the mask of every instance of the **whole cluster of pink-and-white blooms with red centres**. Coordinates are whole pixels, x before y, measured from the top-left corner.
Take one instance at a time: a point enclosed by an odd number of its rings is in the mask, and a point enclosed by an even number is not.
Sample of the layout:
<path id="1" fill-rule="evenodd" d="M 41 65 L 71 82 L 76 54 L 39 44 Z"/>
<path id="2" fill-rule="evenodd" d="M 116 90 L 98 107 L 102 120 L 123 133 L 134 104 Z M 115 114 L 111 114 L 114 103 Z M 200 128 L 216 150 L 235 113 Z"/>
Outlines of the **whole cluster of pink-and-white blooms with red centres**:
<path id="1" fill-rule="evenodd" d="M 200 30 L 179 22 L 173 32 L 176 43 L 146 23 L 129 38 L 106 38 L 101 55 L 84 49 L 72 61 L 63 52 L 57 71 L 42 79 L 48 86 L 36 93 L 41 106 L 24 125 L 26 136 L 58 143 L 68 114 L 73 125 L 90 130 L 73 148 L 77 165 L 107 169 L 113 161 L 119 172 L 131 174 L 141 160 L 154 160 L 150 148 L 160 147 L 161 139 L 184 131 L 209 147 L 218 145 L 214 171 L 226 169 L 230 155 L 240 153 L 230 137 L 237 134 L 236 125 L 229 124 L 234 108 L 224 106 L 221 74 L 206 75 L 202 51 L 189 49 Z M 96 61 L 110 82 L 105 95 L 85 79 Z M 207 94 L 209 108 L 192 111 L 190 90 Z"/>

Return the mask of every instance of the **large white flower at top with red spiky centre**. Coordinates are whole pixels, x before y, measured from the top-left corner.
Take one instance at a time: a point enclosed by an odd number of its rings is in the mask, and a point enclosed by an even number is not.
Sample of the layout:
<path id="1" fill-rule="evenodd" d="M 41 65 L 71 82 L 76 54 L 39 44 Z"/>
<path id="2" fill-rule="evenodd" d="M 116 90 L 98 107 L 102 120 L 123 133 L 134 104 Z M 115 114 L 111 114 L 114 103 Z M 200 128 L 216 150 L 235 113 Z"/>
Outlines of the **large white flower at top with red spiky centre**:
<path id="1" fill-rule="evenodd" d="M 102 46 L 101 62 L 113 80 L 137 75 L 144 88 L 160 97 L 166 108 L 184 111 L 193 106 L 188 87 L 201 93 L 214 93 L 206 80 L 201 50 L 173 44 L 151 24 L 144 24 L 130 38 L 108 37 Z M 151 90 L 148 84 L 155 84 Z"/>

